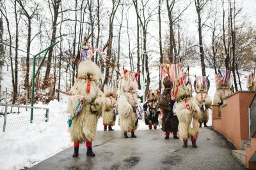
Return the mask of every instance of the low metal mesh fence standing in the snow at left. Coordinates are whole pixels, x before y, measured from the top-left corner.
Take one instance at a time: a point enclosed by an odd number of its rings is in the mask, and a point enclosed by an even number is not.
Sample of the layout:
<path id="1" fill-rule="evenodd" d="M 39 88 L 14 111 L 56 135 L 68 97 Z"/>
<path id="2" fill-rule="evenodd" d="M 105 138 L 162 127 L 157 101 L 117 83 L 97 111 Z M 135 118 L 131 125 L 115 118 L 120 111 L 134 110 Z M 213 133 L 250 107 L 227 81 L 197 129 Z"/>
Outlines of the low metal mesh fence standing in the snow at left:
<path id="1" fill-rule="evenodd" d="M 32 108 L 34 110 L 33 123 L 48 121 L 49 108 L 0 103 L 0 131 L 15 131 L 30 124 Z"/>

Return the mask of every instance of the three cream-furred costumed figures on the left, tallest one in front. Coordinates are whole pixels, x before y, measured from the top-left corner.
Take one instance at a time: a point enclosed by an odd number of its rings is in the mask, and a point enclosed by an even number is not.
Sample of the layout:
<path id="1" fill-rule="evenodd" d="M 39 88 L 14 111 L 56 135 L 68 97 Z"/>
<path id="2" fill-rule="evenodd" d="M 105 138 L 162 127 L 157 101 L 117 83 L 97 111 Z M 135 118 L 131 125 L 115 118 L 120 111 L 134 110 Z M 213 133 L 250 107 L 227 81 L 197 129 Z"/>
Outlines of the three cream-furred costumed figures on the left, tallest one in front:
<path id="1" fill-rule="evenodd" d="M 124 137 L 131 137 L 138 127 L 138 120 L 142 118 L 142 108 L 137 99 L 137 83 L 139 73 L 124 70 L 124 76 L 120 81 L 110 80 L 109 85 L 104 86 L 104 92 L 100 90 L 102 79 L 102 66 L 108 59 L 104 48 L 96 50 L 100 57 L 99 66 L 92 61 L 95 53 L 92 46 L 86 43 L 84 38 L 81 53 L 75 60 L 78 69 L 74 85 L 68 94 L 68 127 L 70 136 L 74 142 L 73 157 L 79 155 L 80 143 L 86 143 L 86 155 L 94 157 L 92 141 L 96 139 L 98 118 L 102 117 L 104 131 L 113 131 L 116 115 L 119 115 L 119 124 Z M 105 45 L 106 46 L 106 45 Z M 101 67 L 101 68 L 100 68 Z M 118 87 L 119 85 L 119 87 Z M 120 89 L 120 97 L 117 101 L 117 90 Z"/>

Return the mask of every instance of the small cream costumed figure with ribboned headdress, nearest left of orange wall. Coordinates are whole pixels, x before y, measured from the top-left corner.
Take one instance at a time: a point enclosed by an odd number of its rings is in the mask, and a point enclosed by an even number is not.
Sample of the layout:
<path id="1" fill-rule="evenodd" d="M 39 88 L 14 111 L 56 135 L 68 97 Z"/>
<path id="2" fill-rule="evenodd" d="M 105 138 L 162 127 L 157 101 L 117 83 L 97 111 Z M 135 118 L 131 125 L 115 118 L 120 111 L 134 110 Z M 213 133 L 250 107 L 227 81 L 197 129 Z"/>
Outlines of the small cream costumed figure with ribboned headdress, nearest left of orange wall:
<path id="1" fill-rule="evenodd" d="M 194 87 L 196 91 L 196 96 L 194 97 L 196 104 L 201 109 L 202 118 L 199 121 L 199 127 L 207 127 L 207 122 L 209 120 L 209 108 L 211 108 L 212 100 L 208 95 L 208 90 L 210 88 L 210 82 L 206 76 L 197 76 L 194 82 Z"/>

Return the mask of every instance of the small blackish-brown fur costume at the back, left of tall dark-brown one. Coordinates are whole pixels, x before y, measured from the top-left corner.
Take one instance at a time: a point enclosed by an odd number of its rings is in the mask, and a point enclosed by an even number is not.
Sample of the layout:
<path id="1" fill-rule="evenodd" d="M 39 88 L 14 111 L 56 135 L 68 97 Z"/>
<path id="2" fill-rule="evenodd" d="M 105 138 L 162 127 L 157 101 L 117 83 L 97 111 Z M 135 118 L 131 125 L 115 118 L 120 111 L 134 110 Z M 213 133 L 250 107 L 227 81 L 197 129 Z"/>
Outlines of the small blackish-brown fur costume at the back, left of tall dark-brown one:
<path id="1" fill-rule="evenodd" d="M 158 115 L 160 114 L 160 110 L 158 107 L 160 92 L 159 90 L 149 90 L 147 103 L 143 105 L 143 110 L 145 111 L 145 124 L 148 125 L 148 129 L 152 129 L 152 125 L 154 129 L 157 129 L 157 125 L 159 124 Z"/>

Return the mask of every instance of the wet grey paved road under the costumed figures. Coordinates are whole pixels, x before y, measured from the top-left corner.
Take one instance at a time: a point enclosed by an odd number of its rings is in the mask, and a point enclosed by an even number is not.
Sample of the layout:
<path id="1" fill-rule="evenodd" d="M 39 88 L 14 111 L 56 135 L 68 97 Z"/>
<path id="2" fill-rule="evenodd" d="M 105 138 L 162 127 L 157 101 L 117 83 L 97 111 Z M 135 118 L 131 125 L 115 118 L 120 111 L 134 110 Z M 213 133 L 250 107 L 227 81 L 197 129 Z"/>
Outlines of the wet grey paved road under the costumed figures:
<path id="1" fill-rule="evenodd" d="M 138 138 L 123 138 L 120 131 L 99 131 L 93 143 L 96 156 L 86 157 L 80 146 L 63 150 L 31 167 L 35 169 L 244 169 L 231 155 L 225 141 L 211 129 L 201 128 L 198 148 L 182 148 L 179 139 L 165 140 L 161 130 L 136 131 Z M 129 134 L 129 137 L 131 134 Z M 208 140 L 208 139 L 209 140 Z"/>

